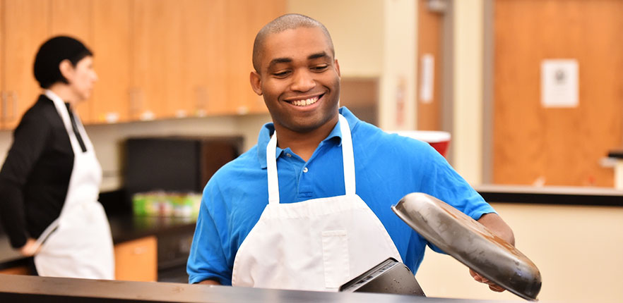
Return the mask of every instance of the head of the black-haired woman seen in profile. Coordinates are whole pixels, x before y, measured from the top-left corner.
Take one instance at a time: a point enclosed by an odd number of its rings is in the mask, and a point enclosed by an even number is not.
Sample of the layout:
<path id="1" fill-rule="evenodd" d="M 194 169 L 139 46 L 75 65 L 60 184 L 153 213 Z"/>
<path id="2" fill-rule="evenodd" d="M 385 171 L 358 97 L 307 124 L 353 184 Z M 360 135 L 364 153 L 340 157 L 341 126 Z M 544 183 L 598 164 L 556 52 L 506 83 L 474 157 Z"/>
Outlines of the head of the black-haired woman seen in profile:
<path id="1" fill-rule="evenodd" d="M 97 80 L 93 53 L 72 37 L 58 36 L 44 42 L 37 51 L 33 69 L 40 87 L 68 85 L 77 99 L 87 99 Z"/>

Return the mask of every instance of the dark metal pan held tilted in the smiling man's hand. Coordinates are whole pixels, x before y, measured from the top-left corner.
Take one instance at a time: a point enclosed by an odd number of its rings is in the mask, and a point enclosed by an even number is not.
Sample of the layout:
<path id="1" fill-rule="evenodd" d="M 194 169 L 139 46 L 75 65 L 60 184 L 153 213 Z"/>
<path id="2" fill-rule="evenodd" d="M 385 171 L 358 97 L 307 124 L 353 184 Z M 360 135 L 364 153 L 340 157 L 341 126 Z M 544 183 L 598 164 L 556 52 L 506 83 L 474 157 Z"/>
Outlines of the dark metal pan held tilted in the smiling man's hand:
<path id="1" fill-rule="evenodd" d="M 473 218 L 421 192 L 407 194 L 391 209 L 454 259 L 523 299 L 537 300 L 541 274 L 535 264 Z"/>

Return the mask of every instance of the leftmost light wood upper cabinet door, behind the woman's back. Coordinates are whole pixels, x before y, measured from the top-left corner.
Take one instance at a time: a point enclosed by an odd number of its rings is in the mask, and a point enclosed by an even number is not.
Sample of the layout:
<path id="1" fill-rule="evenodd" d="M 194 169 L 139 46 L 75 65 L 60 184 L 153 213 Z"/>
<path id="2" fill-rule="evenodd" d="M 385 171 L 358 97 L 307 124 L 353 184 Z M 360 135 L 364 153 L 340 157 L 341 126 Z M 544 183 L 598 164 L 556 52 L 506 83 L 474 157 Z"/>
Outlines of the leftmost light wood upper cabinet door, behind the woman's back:
<path id="1" fill-rule="evenodd" d="M 5 106 L 1 128 L 15 128 L 23 113 L 35 103 L 41 88 L 32 75 L 32 64 L 49 37 L 49 1 L 4 0 L 1 15 L 3 54 L 0 68 Z M 9 76 L 10 75 L 10 76 Z"/>

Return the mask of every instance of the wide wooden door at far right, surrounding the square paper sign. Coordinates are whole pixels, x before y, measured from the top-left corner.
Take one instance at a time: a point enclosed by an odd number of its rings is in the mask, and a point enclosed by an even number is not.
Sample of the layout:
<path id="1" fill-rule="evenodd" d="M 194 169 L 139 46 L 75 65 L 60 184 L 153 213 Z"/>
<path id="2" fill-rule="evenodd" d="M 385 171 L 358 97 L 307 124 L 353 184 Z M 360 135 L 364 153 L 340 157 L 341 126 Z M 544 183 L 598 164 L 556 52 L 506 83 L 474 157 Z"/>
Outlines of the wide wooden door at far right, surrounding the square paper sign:
<path id="1" fill-rule="evenodd" d="M 578 106 L 541 106 L 547 58 L 578 62 Z M 622 125 L 623 0 L 495 1 L 494 183 L 610 187 Z"/>

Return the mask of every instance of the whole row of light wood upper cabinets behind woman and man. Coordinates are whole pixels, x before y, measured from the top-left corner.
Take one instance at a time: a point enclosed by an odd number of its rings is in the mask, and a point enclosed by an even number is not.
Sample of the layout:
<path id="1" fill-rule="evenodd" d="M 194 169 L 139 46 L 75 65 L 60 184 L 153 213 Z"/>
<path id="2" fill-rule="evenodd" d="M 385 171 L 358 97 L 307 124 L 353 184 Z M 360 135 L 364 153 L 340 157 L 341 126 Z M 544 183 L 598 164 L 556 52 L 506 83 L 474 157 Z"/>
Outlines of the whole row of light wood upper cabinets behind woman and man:
<path id="1" fill-rule="evenodd" d="M 98 81 L 83 123 L 266 113 L 249 84 L 253 40 L 285 0 L 0 0 L 0 128 L 40 94 L 32 63 L 52 35 L 81 39 Z M 11 75 L 8 77 L 7 75 Z"/>

